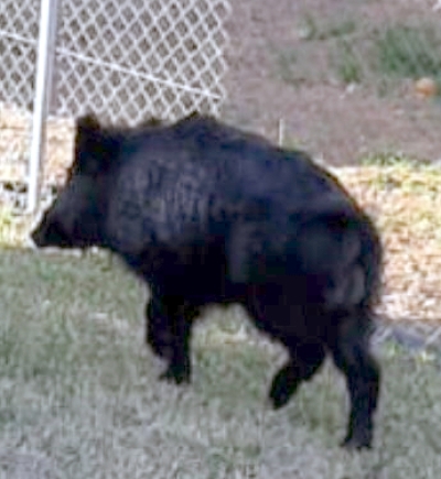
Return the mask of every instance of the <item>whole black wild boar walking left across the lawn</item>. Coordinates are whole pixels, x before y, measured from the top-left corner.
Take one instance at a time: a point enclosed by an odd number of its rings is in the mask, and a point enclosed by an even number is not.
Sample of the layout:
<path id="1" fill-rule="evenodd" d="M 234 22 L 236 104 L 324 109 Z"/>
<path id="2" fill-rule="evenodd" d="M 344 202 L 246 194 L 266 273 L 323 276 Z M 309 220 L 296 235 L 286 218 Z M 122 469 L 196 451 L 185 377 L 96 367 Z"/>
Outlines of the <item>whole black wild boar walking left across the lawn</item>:
<path id="1" fill-rule="evenodd" d="M 65 188 L 32 232 L 37 247 L 106 248 L 151 289 L 147 340 L 191 380 L 192 324 L 240 303 L 287 348 L 270 399 L 281 407 L 326 353 L 345 374 L 344 445 L 370 447 L 379 366 L 369 352 L 383 249 L 370 219 L 305 153 L 213 118 L 103 127 L 77 119 Z"/>

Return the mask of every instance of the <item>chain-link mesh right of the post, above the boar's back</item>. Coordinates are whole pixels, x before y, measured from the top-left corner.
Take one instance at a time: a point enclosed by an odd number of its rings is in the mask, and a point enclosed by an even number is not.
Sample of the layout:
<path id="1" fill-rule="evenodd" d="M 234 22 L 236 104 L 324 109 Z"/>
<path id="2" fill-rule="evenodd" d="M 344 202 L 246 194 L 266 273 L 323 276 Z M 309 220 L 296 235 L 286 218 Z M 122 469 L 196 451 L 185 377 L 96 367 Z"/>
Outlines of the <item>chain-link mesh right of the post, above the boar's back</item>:
<path id="1" fill-rule="evenodd" d="M 227 13 L 224 0 L 63 2 L 52 111 L 93 106 L 129 124 L 192 109 L 217 115 Z"/>

